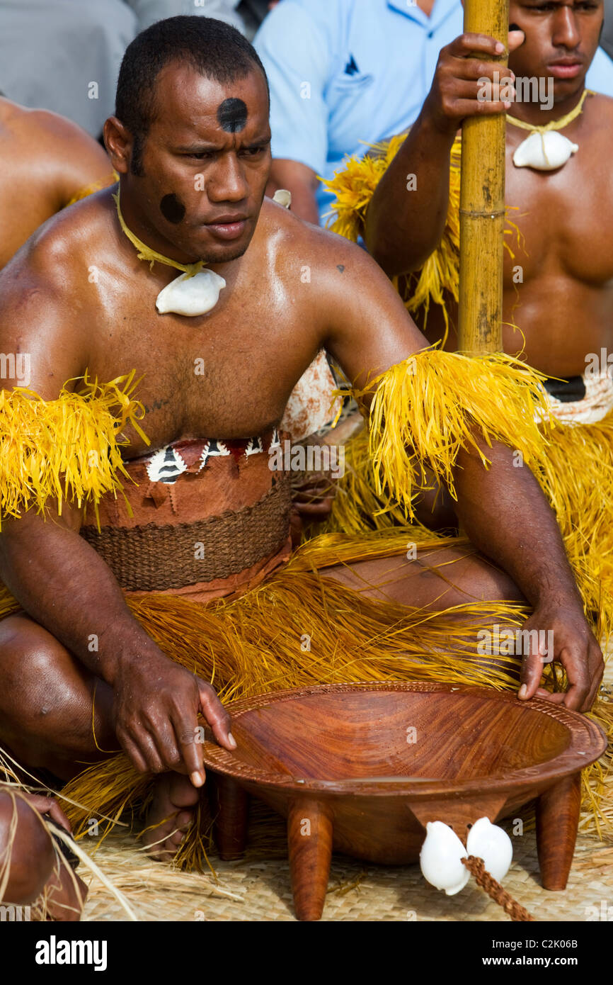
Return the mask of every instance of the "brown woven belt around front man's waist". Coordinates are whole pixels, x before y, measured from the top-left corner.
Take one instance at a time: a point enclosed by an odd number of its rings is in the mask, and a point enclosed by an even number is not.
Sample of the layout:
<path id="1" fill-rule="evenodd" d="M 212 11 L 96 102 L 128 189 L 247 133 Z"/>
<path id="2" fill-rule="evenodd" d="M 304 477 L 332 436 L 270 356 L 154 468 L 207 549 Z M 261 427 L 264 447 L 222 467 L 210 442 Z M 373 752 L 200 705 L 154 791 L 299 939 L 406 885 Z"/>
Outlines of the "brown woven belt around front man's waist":
<path id="1" fill-rule="evenodd" d="M 83 527 L 123 589 L 155 592 L 229 578 L 279 551 L 289 533 L 283 476 L 253 506 L 175 526 Z"/>

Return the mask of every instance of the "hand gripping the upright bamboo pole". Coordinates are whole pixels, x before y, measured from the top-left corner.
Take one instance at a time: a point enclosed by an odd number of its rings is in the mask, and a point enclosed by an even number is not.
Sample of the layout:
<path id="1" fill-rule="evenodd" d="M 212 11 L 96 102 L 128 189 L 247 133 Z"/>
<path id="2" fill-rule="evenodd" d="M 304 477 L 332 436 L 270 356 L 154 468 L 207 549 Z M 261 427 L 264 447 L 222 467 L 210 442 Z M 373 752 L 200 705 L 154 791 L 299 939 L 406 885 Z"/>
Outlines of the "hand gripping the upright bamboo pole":
<path id="1" fill-rule="evenodd" d="M 515 51 L 523 39 L 522 31 L 511 31 L 509 50 Z M 432 88 L 424 102 L 424 111 L 438 130 L 455 135 L 466 116 L 507 112 L 515 99 L 515 89 L 509 84 L 509 79 L 515 81 L 515 75 L 500 62 L 488 61 L 488 57 L 500 56 L 504 50 L 500 41 L 487 34 L 460 34 L 441 49 Z M 479 55 L 483 57 L 479 58 Z M 478 99 L 482 92 L 480 79 L 489 79 L 492 83 L 493 99 Z M 502 87 L 505 89 L 503 100 L 499 99 Z M 509 96 L 512 99 L 508 99 Z"/>

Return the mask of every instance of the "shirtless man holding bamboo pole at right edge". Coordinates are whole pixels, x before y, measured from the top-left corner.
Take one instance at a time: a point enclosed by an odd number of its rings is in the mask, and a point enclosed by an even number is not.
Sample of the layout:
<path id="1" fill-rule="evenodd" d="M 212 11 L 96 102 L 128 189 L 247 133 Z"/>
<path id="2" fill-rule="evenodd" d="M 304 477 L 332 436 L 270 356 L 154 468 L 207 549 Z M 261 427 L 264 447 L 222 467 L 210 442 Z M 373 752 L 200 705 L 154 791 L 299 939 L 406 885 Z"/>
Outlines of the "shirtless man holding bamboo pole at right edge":
<path id="1" fill-rule="evenodd" d="M 485 285 L 492 284 L 495 275 L 487 267 L 495 254 L 500 256 L 504 236 L 503 348 L 521 353 L 545 375 L 556 421 L 541 485 L 556 509 L 584 598 L 595 605 L 601 594 L 610 610 L 613 101 L 585 89 L 602 19 L 602 0 L 512 0 L 508 73 L 497 60 L 499 42 L 492 36 L 464 34 L 445 47 L 423 110 L 407 138 L 398 141 L 389 166 L 381 165 L 365 219 L 362 212 L 357 226 L 386 273 L 398 277 L 398 288 L 430 341 L 444 340 L 448 351 L 471 351 L 478 340 L 459 335 L 465 310 L 460 296 L 459 311 L 459 273 L 464 272 L 463 247 L 472 248 L 464 236 L 472 222 L 487 226 L 488 211 L 496 217 L 489 220 L 499 225 L 495 241 L 486 247 L 479 240 L 470 270 L 480 271 Z M 533 101 L 526 101 L 530 97 Z M 462 145 L 475 123 L 495 126 L 498 121 L 504 127 L 505 113 L 506 219 L 501 200 L 482 180 L 486 145 L 472 182 L 482 194 L 485 184 L 485 218 L 475 220 L 473 206 L 463 200 L 459 212 L 460 155 L 465 159 L 469 151 Z M 496 153 L 495 139 L 490 146 Z M 467 164 L 462 161 L 462 182 Z M 409 174 L 414 176 L 410 191 Z M 335 182 L 339 220 L 345 225 L 348 175 L 355 184 L 358 178 L 350 168 Z M 494 258 L 494 270 L 498 262 Z M 442 272 L 436 285 L 435 268 Z M 474 280 L 466 277 L 460 276 L 460 292 L 462 281 L 464 300 L 472 303 L 470 326 L 478 319 L 481 298 Z M 443 304 L 416 310 L 415 295 Z M 434 512 L 428 505 L 421 517 L 435 526 L 454 523 L 453 503 L 439 496 Z"/>

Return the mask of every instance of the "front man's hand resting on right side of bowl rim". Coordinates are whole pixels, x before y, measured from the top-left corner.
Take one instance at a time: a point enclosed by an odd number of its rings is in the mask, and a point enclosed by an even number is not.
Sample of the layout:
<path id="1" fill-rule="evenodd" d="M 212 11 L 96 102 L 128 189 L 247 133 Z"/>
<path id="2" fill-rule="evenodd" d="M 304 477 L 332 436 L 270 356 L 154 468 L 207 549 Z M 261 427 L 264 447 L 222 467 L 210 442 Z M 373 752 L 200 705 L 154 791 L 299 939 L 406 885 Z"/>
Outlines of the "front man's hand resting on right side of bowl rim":
<path id="1" fill-rule="evenodd" d="M 523 658 L 519 696 L 527 700 L 536 694 L 554 704 L 564 704 L 576 711 L 588 711 L 602 680 L 604 661 L 602 651 L 585 622 L 581 605 L 573 602 L 571 605 L 540 607 L 522 629 L 537 632 L 530 637 L 530 652 Z M 570 686 L 566 693 L 560 691 L 552 694 L 539 688 L 544 663 L 552 659 L 562 664 L 566 671 Z"/>

